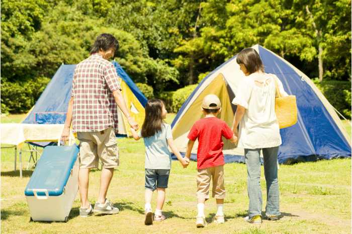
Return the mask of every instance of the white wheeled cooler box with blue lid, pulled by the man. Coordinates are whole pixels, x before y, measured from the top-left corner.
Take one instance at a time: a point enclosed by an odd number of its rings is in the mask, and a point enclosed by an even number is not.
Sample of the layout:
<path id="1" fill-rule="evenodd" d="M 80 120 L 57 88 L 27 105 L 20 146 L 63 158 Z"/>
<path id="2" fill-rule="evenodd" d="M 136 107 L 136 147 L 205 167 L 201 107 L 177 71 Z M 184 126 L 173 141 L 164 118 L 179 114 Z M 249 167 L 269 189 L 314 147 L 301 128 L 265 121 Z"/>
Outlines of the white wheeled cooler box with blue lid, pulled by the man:
<path id="1" fill-rule="evenodd" d="M 79 148 L 46 146 L 25 189 L 33 221 L 67 221 L 78 191 Z"/>

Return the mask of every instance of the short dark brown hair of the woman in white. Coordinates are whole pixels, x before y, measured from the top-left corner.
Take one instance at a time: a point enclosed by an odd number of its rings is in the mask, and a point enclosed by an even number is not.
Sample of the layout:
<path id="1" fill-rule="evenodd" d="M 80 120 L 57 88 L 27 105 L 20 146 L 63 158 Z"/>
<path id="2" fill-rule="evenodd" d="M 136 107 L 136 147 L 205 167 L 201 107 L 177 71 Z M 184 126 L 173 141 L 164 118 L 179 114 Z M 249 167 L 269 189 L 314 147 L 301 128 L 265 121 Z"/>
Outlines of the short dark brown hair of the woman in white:
<path id="1" fill-rule="evenodd" d="M 236 57 L 236 62 L 243 64 L 249 74 L 259 70 L 264 72 L 264 65 L 261 62 L 260 56 L 253 48 L 246 48 L 239 52 Z"/>

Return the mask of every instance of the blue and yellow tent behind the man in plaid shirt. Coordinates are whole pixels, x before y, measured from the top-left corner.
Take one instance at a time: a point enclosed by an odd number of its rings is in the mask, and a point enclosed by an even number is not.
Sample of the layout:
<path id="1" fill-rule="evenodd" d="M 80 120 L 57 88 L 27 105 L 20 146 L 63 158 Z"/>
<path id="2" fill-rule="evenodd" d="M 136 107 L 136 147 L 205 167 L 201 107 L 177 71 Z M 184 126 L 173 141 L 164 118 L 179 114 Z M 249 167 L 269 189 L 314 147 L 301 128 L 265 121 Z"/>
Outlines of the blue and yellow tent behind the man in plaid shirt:
<path id="1" fill-rule="evenodd" d="M 144 107 L 147 103 L 147 99 L 120 64 L 116 61 L 112 63 L 120 77 L 122 94 L 127 107 L 130 109 L 131 115 L 136 119 L 139 126 L 142 126 L 145 117 Z M 71 97 L 72 79 L 75 67 L 75 64 L 62 64 L 59 67 L 35 106 L 30 110 L 22 123 L 63 124 L 65 122 L 68 101 Z M 131 135 L 127 119 L 120 110 L 118 128 L 119 136 Z"/>

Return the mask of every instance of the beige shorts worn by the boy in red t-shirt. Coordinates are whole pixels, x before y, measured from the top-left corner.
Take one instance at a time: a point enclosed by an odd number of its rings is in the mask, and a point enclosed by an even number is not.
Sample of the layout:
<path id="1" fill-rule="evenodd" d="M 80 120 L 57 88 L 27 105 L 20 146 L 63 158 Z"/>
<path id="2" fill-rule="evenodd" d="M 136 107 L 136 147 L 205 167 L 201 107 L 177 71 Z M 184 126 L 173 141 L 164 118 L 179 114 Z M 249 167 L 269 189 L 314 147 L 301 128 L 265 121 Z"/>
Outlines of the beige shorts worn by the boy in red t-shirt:
<path id="1" fill-rule="evenodd" d="M 197 197 L 209 199 L 210 181 L 213 180 L 212 196 L 217 199 L 225 198 L 224 166 L 217 166 L 198 170 Z"/>

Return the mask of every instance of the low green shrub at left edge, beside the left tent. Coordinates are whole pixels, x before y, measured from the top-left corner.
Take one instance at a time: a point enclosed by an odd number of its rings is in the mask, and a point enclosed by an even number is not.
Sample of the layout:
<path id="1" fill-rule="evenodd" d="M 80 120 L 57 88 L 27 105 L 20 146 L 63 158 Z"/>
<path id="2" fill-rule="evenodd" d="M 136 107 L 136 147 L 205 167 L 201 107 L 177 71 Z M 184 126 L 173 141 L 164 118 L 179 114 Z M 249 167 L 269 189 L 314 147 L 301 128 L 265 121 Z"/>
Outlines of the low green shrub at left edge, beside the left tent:
<path id="1" fill-rule="evenodd" d="M 39 77 L 38 79 L 27 82 L 8 82 L 6 79 L 3 79 L 1 84 L 2 112 L 28 112 L 42 94 L 49 81 L 50 79 L 47 77 Z"/>

